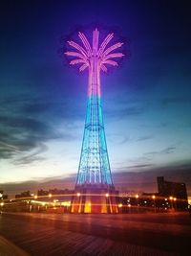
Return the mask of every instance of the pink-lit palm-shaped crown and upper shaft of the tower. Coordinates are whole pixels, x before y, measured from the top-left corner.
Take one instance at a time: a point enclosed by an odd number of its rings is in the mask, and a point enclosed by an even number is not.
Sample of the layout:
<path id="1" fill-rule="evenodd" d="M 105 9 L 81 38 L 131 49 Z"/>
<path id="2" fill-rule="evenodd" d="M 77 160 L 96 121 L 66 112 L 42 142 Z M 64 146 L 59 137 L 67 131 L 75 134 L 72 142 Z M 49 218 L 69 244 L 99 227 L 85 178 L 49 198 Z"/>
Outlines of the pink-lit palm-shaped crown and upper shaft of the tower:
<path id="1" fill-rule="evenodd" d="M 65 54 L 74 58 L 70 62 L 71 65 L 82 64 L 79 67 L 80 72 L 84 71 L 86 68 L 89 69 L 88 95 L 97 95 L 100 97 L 100 71 L 107 72 L 106 65 L 118 65 L 116 58 L 121 58 L 124 55 L 122 53 L 112 52 L 120 48 L 123 43 L 117 42 L 107 48 L 108 43 L 114 37 L 114 33 L 112 33 L 107 35 L 99 46 L 99 32 L 97 29 L 93 32 L 92 46 L 86 35 L 79 32 L 78 36 L 83 45 L 81 46 L 74 41 L 68 41 L 69 45 L 72 46 L 76 52 L 68 51 Z M 115 58 L 115 60 L 112 58 Z"/>

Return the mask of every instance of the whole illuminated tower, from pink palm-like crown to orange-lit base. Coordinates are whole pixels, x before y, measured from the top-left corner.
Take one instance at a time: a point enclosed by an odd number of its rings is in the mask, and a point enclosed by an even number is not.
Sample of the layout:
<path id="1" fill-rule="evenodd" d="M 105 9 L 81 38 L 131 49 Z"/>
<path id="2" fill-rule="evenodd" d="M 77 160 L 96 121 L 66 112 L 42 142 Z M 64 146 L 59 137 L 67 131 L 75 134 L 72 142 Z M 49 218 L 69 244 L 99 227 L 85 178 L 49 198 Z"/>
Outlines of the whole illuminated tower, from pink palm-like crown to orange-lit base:
<path id="1" fill-rule="evenodd" d="M 114 196 L 116 191 L 102 116 L 100 72 L 107 72 L 107 65 L 117 66 L 116 58 L 123 56 L 122 53 L 117 52 L 117 49 L 123 43 L 117 42 L 110 45 L 114 37 L 112 33 L 107 35 L 99 45 L 97 29 L 93 32 L 92 43 L 83 33 L 78 33 L 78 36 L 82 44 L 68 41 L 74 51 L 68 51 L 65 54 L 73 58 L 71 65 L 79 64 L 80 72 L 88 69 L 89 80 L 86 121 L 75 184 L 77 196 L 73 198 L 72 212 L 117 212 L 114 206 L 117 205 Z"/>

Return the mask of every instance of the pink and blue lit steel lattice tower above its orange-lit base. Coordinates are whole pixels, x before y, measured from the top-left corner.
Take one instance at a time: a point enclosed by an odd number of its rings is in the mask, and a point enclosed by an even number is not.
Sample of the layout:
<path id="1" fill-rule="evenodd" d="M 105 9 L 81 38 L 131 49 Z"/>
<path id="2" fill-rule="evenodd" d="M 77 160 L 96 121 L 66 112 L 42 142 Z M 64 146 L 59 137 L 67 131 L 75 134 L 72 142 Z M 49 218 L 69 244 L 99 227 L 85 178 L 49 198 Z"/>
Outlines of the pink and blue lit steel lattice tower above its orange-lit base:
<path id="1" fill-rule="evenodd" d="M 116 58 L 121 58 L 123 54 L 116 50 L 123 43 L 110 45 L 114 37 L 112 33 L 99 44 L 97 29 L 93 32 L 92 43 L 83 33 L 78 33 L 78 36 L 82 45 L 68 41 L 75 51 L 65 53 L 74 58 L 70 64 L 80 65 L 79 71 L 86 68 L 89 71 L 86 121 L 75 187 L 100 185 L 114 189 L 103 124 L 100 72 L 107 72 L 107 65 L 117 66 Z"/>

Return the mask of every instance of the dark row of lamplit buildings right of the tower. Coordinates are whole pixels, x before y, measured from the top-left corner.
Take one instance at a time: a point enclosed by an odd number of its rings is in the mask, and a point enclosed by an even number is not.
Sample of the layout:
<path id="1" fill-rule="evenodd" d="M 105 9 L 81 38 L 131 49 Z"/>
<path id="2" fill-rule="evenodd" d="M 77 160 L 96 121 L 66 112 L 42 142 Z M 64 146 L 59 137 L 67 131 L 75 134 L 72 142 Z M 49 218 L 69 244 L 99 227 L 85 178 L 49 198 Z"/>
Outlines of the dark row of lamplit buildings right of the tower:
<path id="1" fill-rule="evenodd" d="M 118 197 L 120 213 L 187 211 L 188 200 L 184 183 L 157 178 L 159 192 L 123 193 Z"/>

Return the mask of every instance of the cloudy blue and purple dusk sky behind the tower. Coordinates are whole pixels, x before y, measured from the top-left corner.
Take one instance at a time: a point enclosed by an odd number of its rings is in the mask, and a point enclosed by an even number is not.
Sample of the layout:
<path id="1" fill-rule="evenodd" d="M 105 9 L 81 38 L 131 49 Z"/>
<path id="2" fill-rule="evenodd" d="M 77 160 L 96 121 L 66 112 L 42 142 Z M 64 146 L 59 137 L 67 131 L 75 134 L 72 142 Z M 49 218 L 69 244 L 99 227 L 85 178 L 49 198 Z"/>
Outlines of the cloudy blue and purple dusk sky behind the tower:
<path id="1" fill-rule="evenodd" d="M 190 13 L 189 1 L 1 1 L 1 186 L 74 180 L 88 74 L 60 57 L 60 37 L 97 24 L 114 28 L 126 43 L 120 67 L 101 76 L 116 183 L 122 178 L 128 189 L 133 178 L 135 188 L 147 184 L 148 191 L 164 175 L 189 187 Z M 152 174 L 150 187 L 145 172 Z"/>

